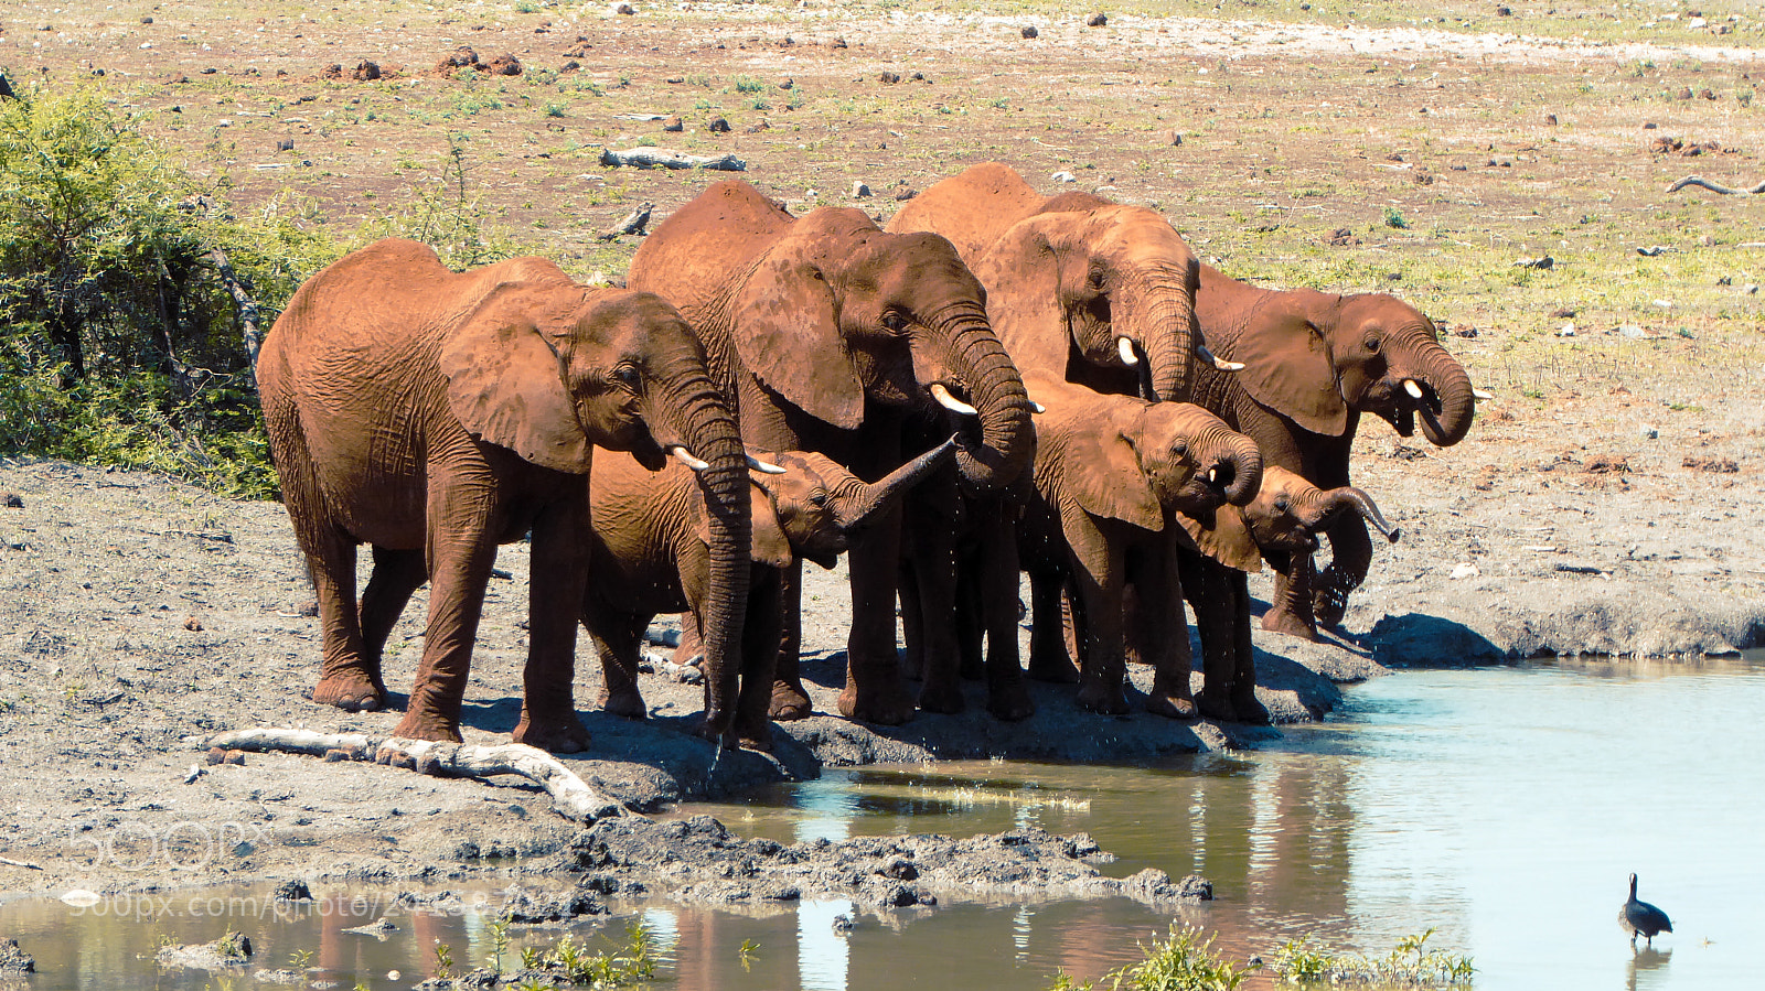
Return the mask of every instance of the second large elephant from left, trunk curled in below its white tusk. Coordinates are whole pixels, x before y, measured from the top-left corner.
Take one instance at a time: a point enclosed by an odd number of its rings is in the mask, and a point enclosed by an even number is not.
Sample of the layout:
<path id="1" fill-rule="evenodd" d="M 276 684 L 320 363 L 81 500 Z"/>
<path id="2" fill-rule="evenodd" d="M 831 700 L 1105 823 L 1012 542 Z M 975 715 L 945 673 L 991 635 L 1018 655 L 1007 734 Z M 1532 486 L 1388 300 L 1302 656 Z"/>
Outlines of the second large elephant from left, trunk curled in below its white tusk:
<path id="1" fill-rule="evenodd" d="M 1029 464 L 1024 383 L 987 321 L 985 293 L 948 240 L 891 235 L 863 212 L 801 219 L 752 185 L 720 182 L 662 222 L 628 284 L 672 302 L 738 397 L 741 430 L 768 450 L 819 451 L 875 481 L 900 466 L 905 418 L 934 402 L 971 416 L 957 469 L 974 490 Z M 840 714 L 913 716 L 895 656 L 900 513 L 852 545 L 852 622 Z M 808 714 L 798 674 L 800 571 L 782 589 L 785 633 L 771 714 Z"/>

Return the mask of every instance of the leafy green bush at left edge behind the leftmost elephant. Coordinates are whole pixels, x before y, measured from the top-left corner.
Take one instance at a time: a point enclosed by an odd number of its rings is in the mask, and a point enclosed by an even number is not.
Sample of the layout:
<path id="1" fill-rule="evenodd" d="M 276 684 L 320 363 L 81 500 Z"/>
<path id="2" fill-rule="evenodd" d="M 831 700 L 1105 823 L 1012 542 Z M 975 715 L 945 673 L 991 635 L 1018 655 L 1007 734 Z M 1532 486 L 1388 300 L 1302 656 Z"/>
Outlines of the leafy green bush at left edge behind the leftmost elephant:
<path id="1" fill-rule="evenodd" d="M 268 333 L 344 250 L 404 236 L 454 268 L 515 254 L 487 231 L 454 136 L 439 176 L 334 238 L 282 196 L 235 217 L 224 178 L 111 109 L 92 83 L 0 99 L 0 455 L 164 471 L 235 497 L 275 496 L 240 307 Z"/>

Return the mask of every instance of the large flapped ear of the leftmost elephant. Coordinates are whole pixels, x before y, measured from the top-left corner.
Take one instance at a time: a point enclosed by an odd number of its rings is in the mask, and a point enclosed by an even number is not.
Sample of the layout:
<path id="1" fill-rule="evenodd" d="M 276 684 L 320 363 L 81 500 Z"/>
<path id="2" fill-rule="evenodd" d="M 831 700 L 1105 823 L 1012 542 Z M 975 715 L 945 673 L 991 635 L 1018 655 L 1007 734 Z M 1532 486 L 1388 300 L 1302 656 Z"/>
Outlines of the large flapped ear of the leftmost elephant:
<path id="1" fill-rule="evenodd" d="M 441 342 L 447 404 L 473 437 L 572 474 L 588 473 L 593 444 L 575 418 L 558 354 L 538 324 L 491 300 Z"/>

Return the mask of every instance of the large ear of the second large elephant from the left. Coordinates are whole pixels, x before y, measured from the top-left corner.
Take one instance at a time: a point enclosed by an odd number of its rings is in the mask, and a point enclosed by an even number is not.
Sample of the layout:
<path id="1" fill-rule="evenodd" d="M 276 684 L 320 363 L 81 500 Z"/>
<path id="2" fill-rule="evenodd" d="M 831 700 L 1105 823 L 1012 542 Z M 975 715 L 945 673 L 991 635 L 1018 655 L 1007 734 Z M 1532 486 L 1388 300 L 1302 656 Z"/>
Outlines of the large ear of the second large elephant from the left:
<path id="1" fill-rule="evenodd" d="M 851 430 L 865 418 L 865 386 L 840 337 L 826 273 L 807 235 L 787 235 L 748 273 L 734 302 L 741 363 L 792 406 Z"/>

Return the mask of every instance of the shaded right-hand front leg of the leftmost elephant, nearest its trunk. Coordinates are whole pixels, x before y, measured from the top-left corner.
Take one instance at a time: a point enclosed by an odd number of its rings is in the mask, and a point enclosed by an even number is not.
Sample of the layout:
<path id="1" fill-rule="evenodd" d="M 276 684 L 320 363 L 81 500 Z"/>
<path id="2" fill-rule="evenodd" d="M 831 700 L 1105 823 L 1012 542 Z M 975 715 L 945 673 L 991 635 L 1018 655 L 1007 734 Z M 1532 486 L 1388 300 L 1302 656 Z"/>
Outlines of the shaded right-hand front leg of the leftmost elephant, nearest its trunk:
<path id="1" fill-rule="evenodd" d="M 588 749 L 575 714 L 575 621 L 588 584 L 588 488 L 560 499 L 533 520 L 528 582 L 528 665 L 515 742 L 552 753 Z M 482 587 L 480 587 L 482 592 Z"/>

